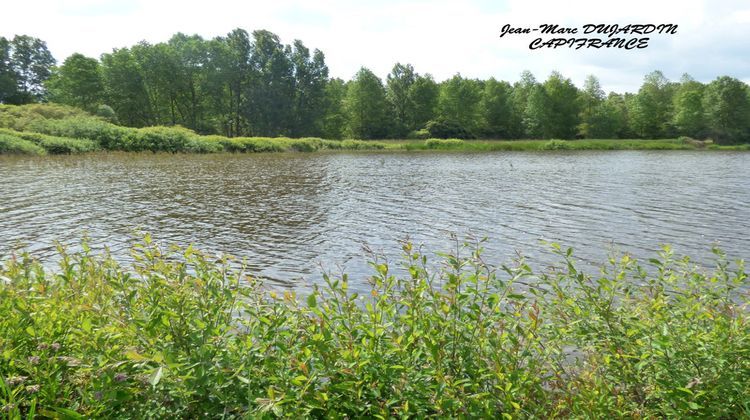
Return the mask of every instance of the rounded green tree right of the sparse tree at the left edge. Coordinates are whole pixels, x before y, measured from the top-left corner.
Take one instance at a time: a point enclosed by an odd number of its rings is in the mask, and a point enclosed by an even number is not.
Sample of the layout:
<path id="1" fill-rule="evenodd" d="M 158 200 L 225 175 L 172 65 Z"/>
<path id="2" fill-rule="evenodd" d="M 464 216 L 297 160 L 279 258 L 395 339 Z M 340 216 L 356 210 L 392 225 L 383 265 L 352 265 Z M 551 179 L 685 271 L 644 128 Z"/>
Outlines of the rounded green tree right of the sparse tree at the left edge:
<path id="1" fill-rule="evenodd" d="M 49 99 L 95 112 L 104 100 L 104 83 L 99 61 L 73 54 L 47 81 Z"/>

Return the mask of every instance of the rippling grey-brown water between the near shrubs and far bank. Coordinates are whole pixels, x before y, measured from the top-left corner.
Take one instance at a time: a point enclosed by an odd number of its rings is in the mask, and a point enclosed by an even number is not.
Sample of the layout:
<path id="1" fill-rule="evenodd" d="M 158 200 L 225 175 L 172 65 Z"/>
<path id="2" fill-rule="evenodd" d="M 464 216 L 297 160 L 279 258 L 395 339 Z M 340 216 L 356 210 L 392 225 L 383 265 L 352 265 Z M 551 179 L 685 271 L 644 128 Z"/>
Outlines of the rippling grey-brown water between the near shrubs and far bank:
<path id="1" fill-rule="evenodd" d="M 342 266 L 369 273 L 363 245 L 430 251 L 450 233 L 487 236 L 486 255 L 552 262 L 540 240 L 585 262 L 650 258 L 669 243 L 711 263 L 750 256 L 750 153 L 550 152 L 0 156 L 0 255 L 40 257 L 84 232 L 123 260 L 135 231 L 246 257 L 303 286 Z M 303 286 L 304 287 L 304 286 Z"/>

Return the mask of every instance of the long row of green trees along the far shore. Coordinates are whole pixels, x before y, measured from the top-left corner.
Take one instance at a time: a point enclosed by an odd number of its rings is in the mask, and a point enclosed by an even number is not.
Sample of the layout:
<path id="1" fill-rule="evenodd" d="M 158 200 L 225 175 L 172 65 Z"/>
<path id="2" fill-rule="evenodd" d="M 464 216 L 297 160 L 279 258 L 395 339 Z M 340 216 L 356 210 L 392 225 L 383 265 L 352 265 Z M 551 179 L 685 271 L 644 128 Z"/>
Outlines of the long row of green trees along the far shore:
<path id="1" fill-rule="evenodd" d="M 660 71 L 637 93 L 577 87 L 558 72 L 511 84 L 456 74 L 437 82 L 397 63 L 385 80 L 361 68 L 331 78 L 325 56 L 266 30 L 204 39 L 182 33 L 61 65 L 37 38 L 0 37 L 0 103 L 56 102 L 120 124 L 203 134 L 339 138 L 712 138 L 750 141 L 750 87 Z"/>

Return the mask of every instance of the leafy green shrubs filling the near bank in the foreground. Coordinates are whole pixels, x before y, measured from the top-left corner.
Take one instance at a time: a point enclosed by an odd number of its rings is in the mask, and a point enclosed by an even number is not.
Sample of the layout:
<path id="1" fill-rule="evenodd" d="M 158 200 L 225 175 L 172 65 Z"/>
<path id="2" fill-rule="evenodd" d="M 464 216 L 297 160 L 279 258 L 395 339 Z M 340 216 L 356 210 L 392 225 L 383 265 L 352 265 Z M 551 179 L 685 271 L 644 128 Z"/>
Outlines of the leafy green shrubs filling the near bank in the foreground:
<path id="1" fill-rule="evenodd" d="M 750 415 L 747 276 L 665 249 L 590 277 L 487 264 L 439 270 L 403 244 L 371 290 L 325 278 L 273 293 L 192 248 L 134 247 L 134 267 L 61 250 L 0 268 L 3 416 L 76 418 Z M 361 281 L 362 279 L 357 279 Z"/>

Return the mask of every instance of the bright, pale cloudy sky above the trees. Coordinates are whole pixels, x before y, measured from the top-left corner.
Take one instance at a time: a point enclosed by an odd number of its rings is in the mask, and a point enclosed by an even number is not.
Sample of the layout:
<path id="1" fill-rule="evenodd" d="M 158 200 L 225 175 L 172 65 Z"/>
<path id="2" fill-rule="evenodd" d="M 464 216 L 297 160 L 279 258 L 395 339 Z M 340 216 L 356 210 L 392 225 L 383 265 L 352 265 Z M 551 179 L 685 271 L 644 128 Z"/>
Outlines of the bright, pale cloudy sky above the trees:
<path id="1" fill-rule="evenodd" d="M 582 86 L 594 74 L 616 92 L 637 91 L 653 70 L 671 80 L 688 73 L 702 82 L 728 75 L 750 83 L 750 0 L 27 0 L 2 8 L 0 36 L 41 38 L 58 62 L 74 52 L 99 57 L 142 40 L 167 41 L 177 32 L 213 38 L 243 28 L 320 49 L 331 76 L 345 80 L 363 66 L 385 78 L 401 62 L 438 81 L 460 73 L 512 83 L 523 70 L 543 81 L 559 71 Z M 532 51 L 538 35 L 500 37 L 505 24 L 589 23 L 679 27 L 631 51 Z"/>

